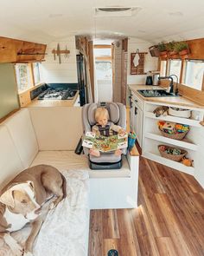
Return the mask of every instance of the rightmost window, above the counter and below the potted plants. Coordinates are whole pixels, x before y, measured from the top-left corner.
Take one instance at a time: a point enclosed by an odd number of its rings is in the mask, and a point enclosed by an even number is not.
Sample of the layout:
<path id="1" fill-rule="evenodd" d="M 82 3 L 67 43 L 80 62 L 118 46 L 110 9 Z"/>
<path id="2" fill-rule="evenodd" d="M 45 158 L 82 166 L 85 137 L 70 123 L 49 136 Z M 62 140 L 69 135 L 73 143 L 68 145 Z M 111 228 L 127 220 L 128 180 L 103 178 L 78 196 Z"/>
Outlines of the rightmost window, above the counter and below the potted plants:
<path id="1" fill-rule="evenodd" d="M 193 89 L 203 87 L 204 61 L 188 60 L 185 63 L 184 84 Z"/>

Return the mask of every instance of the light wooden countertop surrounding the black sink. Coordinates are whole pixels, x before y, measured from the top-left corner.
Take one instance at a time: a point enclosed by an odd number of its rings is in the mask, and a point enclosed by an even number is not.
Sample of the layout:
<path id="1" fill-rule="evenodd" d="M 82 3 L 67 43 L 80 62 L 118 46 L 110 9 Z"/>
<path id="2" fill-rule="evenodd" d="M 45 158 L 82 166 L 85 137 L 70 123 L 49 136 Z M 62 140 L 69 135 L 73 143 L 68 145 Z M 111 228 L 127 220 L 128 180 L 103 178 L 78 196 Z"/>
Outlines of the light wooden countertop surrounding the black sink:
<path id="1" fill-rule="evenodd" d="M 140 93 L 137 92 L 138 89 L 163 89 L 160 86 L 147 86 L 147 85 L 137 85 L 132 84 L 129 85 L 129 88 L 143 101 L 145 102 L 158 102 L 163 104 L 170 104 L 182 107 L 190 107 L 190 108 L 203 108 L 200 104 L 196 104 L 195 102 L 191 102 L 184 96 L 175 96 L 175 97 L 143 97 Z"/>

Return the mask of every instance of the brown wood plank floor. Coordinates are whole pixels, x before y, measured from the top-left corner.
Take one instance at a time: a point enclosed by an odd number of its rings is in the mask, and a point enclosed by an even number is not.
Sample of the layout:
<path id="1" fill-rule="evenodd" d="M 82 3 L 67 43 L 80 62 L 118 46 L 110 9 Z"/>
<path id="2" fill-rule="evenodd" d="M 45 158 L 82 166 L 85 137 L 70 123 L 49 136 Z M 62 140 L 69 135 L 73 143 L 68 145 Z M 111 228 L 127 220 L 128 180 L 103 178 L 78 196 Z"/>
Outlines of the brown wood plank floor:
<path id="1" fill-rule="evenodd" d="M 138 207 L 92 210 L 89 256 L 204 255 L 204 191 L 188 174 L 140 159 Z M 204 174 L 204 170 L 203 174 Z"/>

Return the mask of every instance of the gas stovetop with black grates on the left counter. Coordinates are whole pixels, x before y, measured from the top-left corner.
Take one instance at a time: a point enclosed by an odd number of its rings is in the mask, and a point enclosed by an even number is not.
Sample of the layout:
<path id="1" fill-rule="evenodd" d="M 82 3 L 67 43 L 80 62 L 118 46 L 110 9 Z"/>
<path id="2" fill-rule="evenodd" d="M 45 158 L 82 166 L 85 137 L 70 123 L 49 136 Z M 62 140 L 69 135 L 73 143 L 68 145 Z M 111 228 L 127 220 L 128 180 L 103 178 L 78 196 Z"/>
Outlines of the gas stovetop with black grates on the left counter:
<path id="1" fill-rule="evenodd" d="M 39 96 L 38 100 L 72 100 L 76 90 L 73 89 L 54 89 L 48 88 L 43 91 Z"/>

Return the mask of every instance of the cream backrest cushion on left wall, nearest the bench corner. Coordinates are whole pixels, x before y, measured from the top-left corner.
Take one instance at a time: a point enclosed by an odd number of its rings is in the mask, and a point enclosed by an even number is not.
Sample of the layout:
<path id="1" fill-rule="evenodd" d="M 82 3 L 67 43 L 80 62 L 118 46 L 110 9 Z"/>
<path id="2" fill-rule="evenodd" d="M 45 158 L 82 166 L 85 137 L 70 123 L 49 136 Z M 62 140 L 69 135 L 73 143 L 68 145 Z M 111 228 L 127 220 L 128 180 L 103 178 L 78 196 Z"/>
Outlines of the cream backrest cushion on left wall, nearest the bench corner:
<path id="1" fill-rule="evenodd" d="M 35 131 L 28 109 L 21 109 L 3 122 L 8 128 L 24 168 L 30 166 L 38 152 Z"/>

